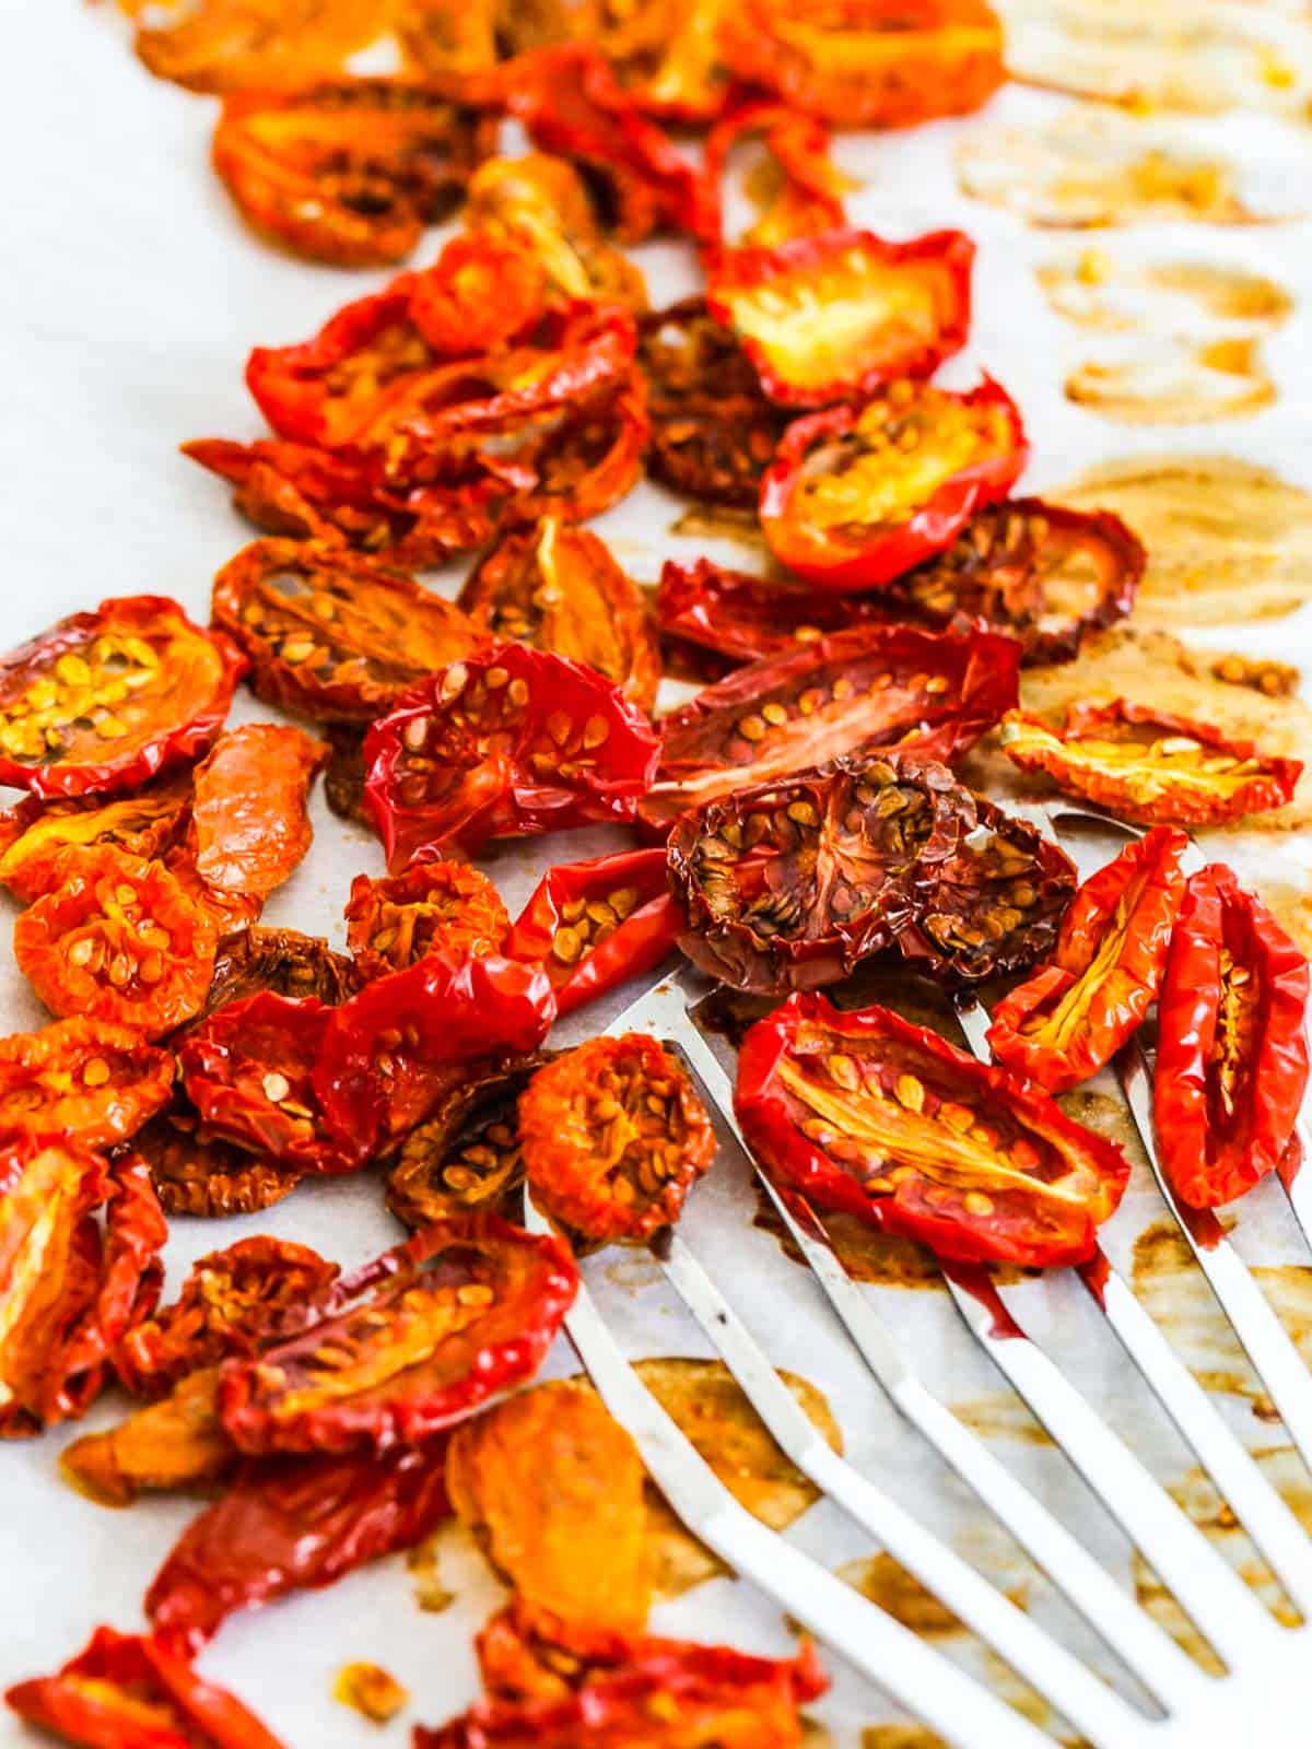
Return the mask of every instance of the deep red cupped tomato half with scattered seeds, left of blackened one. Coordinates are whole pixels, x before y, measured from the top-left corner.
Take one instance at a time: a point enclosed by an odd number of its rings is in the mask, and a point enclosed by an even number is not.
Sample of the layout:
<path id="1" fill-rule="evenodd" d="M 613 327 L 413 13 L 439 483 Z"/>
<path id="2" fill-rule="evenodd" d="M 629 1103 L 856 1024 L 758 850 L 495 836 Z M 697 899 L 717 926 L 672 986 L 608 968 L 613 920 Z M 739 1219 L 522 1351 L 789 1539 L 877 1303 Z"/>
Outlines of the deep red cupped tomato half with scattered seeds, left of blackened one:
<path id="1" fill-rule="evenodd" d="M 632 820 L 656 735 L 619 687 L 527 644 L 492 644 L 423 680 L 369 729 L 366 801 L 388 866 Z"/>

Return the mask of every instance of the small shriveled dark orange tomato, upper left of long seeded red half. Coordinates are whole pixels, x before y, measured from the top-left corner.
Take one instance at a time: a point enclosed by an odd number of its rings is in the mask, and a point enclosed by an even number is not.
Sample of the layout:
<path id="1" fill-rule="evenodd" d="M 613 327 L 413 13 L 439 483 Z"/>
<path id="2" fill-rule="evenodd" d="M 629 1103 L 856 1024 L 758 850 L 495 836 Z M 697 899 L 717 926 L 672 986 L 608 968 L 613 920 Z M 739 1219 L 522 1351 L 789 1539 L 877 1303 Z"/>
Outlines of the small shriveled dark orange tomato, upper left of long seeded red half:
<path id="1" fill-rule="evenodd" d="M 264 1235 L 198 1258 L 178 1298 L 114 1350 L 119 1383 L 138 1397 L 163 1397 L 203 1366 L 255 1354 L 289 1312 L 322 1305 L 338 1273 L 308 1245 Z"/>

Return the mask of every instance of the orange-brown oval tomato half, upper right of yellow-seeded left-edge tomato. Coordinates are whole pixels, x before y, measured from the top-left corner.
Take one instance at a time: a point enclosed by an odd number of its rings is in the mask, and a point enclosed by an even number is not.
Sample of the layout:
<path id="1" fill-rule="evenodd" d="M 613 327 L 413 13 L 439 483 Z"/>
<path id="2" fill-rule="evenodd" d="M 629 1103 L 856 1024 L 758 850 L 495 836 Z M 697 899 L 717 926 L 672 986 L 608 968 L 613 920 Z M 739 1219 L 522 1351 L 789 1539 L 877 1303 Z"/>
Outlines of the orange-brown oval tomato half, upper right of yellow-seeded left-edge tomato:
<path id="1" fill-rule="evenodd" d="M 313 722 L 373 722 L 476 642 L 453 602 L 317 540 L 243 547 L 213 581 L 213 623 L 250 658 L 255 693 Z"/>

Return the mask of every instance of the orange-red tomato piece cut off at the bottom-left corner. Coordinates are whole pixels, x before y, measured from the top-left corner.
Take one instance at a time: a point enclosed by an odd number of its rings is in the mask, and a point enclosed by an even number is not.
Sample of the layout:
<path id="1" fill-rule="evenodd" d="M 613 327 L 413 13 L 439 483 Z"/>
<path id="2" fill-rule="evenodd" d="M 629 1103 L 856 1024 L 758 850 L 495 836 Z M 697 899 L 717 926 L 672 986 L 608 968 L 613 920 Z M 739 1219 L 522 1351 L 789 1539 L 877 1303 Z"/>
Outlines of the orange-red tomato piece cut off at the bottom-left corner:
<path id="1" fill-rule="evenodd" d="M 16 1683 L 5 1702 L 80 1749 L 282 1749 L 236 1695 L 206 1683 L 163 1639 L 96 1628 L 58 1676 Z"/>

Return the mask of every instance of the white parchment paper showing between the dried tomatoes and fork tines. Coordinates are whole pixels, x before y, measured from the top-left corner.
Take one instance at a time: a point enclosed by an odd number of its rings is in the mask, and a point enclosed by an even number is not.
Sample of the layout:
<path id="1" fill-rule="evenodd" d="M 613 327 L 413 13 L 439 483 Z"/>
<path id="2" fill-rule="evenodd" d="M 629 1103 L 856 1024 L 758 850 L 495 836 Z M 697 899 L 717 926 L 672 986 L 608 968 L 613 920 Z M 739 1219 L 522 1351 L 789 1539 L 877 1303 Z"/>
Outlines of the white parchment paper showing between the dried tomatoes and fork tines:
<path id="1" fill-rule="evenodd" d="M 110 595 L 173 595 L 203 619 L 213 572 L 250 530 L 229 507 L 226 488 L 178 456 L 177 444 L 196 436 L 257 434 L 261 423 L 241 383 L 248 348 L 313 332 L 338 304 L 383 276 L 311 268 L 247 236 L 208 171 L 213 103 L 150 80 L 131 58 L 122 21 L 108 5 L 96 10 L 77 0 L 26 9 L 10 3 L 7 16 L 9 40 L 21 52 L 7 54 L 0 72 L 3 163 L 10 171 L 7 273 L 0 285 L 7 402 L 0 425 L 0 647 Z M 962 196 L 953 150 L 974 129 L 1043 126 L 1067 107 L 1065 98 L 1009 87 L 981 117 L 887 140 L 848 136 L 838 143 L 841 166 L 862 184 L 850 201 L 859 222 L 890 236 L 960 226 L 980 243 L 971 345 L 945 380 L 966 383 L 978 367 L 988 367 L 1008 385 L 1034 441 L 1027 490 L 1053 486 L 1095 462 L 1162 451 L 1235 455 L 1312 486 L 1312 404 L 1303 388 L 1312 364 L 1307 224 L 1228 231 L 1155 226 L 1097 238 L 1100 248 L 1116 254 L 1151 250 L 1240 262 L 1279 280 L 1295 310 L 1263 341 L 1281 390 L 1270 409 L 1212 429 L 1123 429 L 1064 397 L 1062 378 L 1088 336 L 1053 313 L 1034 268 L 1079 247 L 1081 238 L 1030 231 L 1015 215 Z M 1274 171 L 1267 180 L 1286 208 L 1307 198 L 1305 131 L 1235 115 L 1212 119 L 1202 131 L 1197 121 L 1183 126 L 1212 150 L 1239 152 L 1258 175 L 1302 161 L 1302 182 Z M 425 247 L 420 259 L 429 255 Z M 680 247 L 656 245 L 637 255 L 649 273 L 654 303 L 696 285 L 691 255 Z M 705 542 L 670 535 L 682 509 L 659 490 L 642 486 L 593 526 L 637 577 L 653 581 L 666 554 L 691 558 L 714 551 Z M 722 556 L 743 561 L 735 549 Z M 432 581 L 451 591 L 458 572 Z M 1190 638 L 1312 665 L 1312 610 L 1260 626 L 1191 631 Z M 668 696 L 677 696 L 677 689 Z M 243 694 L 234 719 L 268 715 Z M 266 922 L 327 934 L 341 944 L 350 878 L 360 871 L 381 873 L 381 854 L 366 833 L 329 815 L 322 796 L 315 801 L 315 826 L 313 852 L 275 895 Z M 548 862 L 598 854 L 623 841 L 625 834 L 609 831 L 539 840 L 499 852 L 486 866 L 514 913 Z M 1302 869 L 1307 845 L 1265 840 L 1256 848 L 1235 847 L 1233 859 L 1263 873 L 1282 859 Z M 572 1016 L 560 1037 L 598 1030 L 632 993 Z M 0 1020 L 5 1032 L 42 1020 L 9 953 L 0 953 Z M 1100 1091 L 1113 1097 L 1113 1090 Z M 1072 1646 L 1085 1646 L 1069 1613 L 1050 1606 L 1044 1586 L 1006 1537 L 897 1422 L 806 1273 L 784 1258 L 773 1238 L 750 1228 L 752 1209 L 745 1168 L 726 1153 L 693 1198 L 684 1233 L 771 1357 L 827 1394 L 847 1450 L 861 1467 L 1023 1595 L 1032 1609 L 1060 1623 Z M 1156 1193 L 1141 1168 L 1107 1230 L 1113 1258 L 1128 1268 L 1135 1238 L 1160 1217 Z M 262 1216 L 175 1221 L 166 1252 L 170 1291 L 192 1258 L 254 1231 L 296 1237 L 348 1268 L 401 1237 L 381 1205 L 376 1179 L 367 1174 L 301 1188 Z M 1305 1252 L 1279 1191 L 1267 1186 L 1247 1200 L 1237 1238 L 1247 1256 L 1282 1270 L 1268 1279 L 1282 1307 L 1296 1310 L 1300 1296 L 1312 1298 L 1312 1272 L 1303 1270 Z M 646 1258 L 612 1254 L 590 1265 L 588 1279 L 632 1355 L 707 1352 Z M 1260 1392 L 1209 1313 L 1205 1294 L 1200 1298 L 1188 1275 L 1165 1287 L 1158 1280 L 1158 1287 L 1172 1315 L 1172 1334 L 1191 1345 L 1190 1359 L 1197 1357 L 1232 1387 L 1218 1401 L 1240 1438 L 1254 1448 L 1279 1448 L 1282 1431 L 1263 1418 Z M 1006 1462 L 1132 1583 L 1125 1541 L 1060 1455 L 1011 1406 L 946 1296 L 892 1287 L 871 1293 L 943 1401 L 967 1406 L 978 1425 L 1001 1431 L 997 1450 Z M 1051 1340 L 1053 1354 L 1111 1420 L 1132 1434 L 1158 1474 L 1169 1481 L 1186 1476 L 1186 1452 L 1079 1289 L 1069 1280 L 1044 1280 L 1018 1289 L 1013 1305 L 1036 1336 Z M 563 1343 L 553 1352 L 549 1371 L 574 1371 Z M 133 1628 L 149 1579 L 196 1511 L 192 1501 L 154 1499 L 114 1513 L 58 1480 L 61 1446 L 108 1424 L 121 1410 L 121 1401 L 105 1397 L 84 1424 L 0 1452 L 0 1550 L 9 1581 L 0 1683 L 54 1669 L 80 1649 L 100 1621 Z M 827 1506 L 812 1509 L 791 1536 L 831 1565 L 869 1553 L 862 1534 Z M 500 1595 L 460 1536 L 443 1537 L 439 1564 L 443 1581 L 455 1592 L 443 1614 L 416 1607 L 415 1579 L 404 1560 L 394 1558 L 334 1590 L 229 1621 L 201 1667 L 233 1686 L 290 1749 L 346 1749 L 366 1740 L 402 1744 L 415 1721 L 437 1723 L 474 1698 L 471 1637 Z M 658 1607 L 653 1627 L 763 1651 L 789 1646 L 778 1611 L 726 1579 Z M 939 1632 L 939 1639 L 953 1656 L 1009 1681 L 960 1635 Z M 331 1698 L 334 1672 L 355 1658 L 383 1663 L 411 1690 L 409 1709 L 385 1730 Z M 833 1695 L 813 1712 L 838 1749 L 890 1749 L 894 1739 L 864 1737 L 896 1718 L 887 1700 L 838 1665 L 834 1677 Z M 28 1740 L 19 1726 L 0 1718 L 0 1742 L 19 1740 Z M 915 1737 L 901 1739 L 897 1749 L 913 1742 Z"/>

